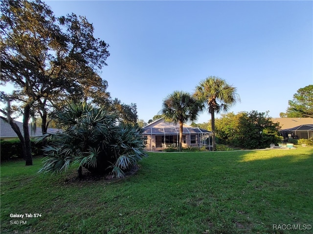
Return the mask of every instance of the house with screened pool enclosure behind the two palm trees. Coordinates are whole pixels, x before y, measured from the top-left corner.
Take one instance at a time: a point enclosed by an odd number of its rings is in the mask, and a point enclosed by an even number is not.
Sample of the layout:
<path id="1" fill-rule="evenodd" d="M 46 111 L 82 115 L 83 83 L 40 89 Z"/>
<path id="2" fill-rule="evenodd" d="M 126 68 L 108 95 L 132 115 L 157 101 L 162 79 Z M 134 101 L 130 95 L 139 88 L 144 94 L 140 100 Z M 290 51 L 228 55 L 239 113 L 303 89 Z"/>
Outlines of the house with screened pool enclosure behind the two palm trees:
<path id="1" fill-rule="evenodd" d="M 147 150 L 177 147 L 179 142 L 179 124 L 167 123 L 163 118 L 143 127 L 144 144 Z M 212 132 L 183 124 L 182 147 L 212 147 Z"/>

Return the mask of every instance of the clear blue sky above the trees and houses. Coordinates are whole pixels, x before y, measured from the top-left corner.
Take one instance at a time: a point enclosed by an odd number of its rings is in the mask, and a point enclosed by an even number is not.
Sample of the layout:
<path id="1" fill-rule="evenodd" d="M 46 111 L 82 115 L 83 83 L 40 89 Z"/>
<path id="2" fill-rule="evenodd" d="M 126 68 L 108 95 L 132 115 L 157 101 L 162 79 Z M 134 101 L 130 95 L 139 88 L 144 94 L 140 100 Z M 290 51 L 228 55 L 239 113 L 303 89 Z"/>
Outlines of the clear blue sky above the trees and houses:
<path id="1" fill-rule="evenodd" d="M 56 16 L 86 16 L 110 44 L 101 77 L 113 98 L 137 104 L 146 122 L 175 90 L 208 76 L 237 87 L 230 109 L 285 112 L 313 84 L 312 1 L 57 1 Z M 199 123 L 207 122 L 204 112 Z"/>

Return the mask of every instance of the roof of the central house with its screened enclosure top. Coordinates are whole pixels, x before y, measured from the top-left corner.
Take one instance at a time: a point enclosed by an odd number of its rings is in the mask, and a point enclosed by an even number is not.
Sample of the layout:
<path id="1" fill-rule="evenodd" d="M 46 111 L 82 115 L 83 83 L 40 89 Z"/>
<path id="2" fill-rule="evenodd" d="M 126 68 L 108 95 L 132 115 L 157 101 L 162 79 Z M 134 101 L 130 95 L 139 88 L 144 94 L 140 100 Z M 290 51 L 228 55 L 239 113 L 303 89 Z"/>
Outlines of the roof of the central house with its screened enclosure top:
<path id="1" fill-rule="evenodd" d="M 167 134 L 167 135 L 177 135 L 179 134 L 179 124 L 168 123 L 164 121 L 164 118 L 159 118 L 154 122 L 151 122 L 143 127 L 144 135 L 151 134 Z M 210 134 L 211 132 L 201 128 L 194 128 L 188 124 L 183 124 L 183 134 Z"/>

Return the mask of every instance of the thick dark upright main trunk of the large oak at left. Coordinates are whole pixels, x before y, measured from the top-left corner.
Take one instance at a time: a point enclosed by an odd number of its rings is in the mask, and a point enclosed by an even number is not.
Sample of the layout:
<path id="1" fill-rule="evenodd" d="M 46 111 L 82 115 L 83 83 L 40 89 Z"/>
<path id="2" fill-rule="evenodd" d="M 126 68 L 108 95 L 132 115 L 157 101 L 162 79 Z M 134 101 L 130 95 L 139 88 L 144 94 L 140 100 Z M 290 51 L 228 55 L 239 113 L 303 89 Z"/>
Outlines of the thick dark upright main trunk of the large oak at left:
<path id="1" fill-rule="evenodd" d="M 24 144 L 25 144 L 24 159 L 25 159 L 26 166 L 33 165 L 33 158 L 31 155 L 31 146 L 30 146 L 30 136 L 29 136 L 29 129 L 28 129 L 29 116 L 30 116 L 30 105 L 28 104 L 24 107 L 24 114 L 23 114 L 23 133 L 24 133 Z"/>

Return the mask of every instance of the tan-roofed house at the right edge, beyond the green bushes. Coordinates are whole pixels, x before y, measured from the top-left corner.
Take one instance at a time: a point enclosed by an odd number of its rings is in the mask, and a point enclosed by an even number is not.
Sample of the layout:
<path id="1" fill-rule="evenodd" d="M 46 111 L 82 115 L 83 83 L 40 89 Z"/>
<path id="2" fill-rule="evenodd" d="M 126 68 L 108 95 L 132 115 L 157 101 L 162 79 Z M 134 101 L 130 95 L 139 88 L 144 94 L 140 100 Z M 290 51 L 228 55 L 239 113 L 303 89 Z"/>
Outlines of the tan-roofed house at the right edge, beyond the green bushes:
<path id="1" fill-rule="evenodd" d="M 284 139 L 309 139 L 313 137 L 313 118 L 272 118 L 279 123 L 279 133 Z"/>

